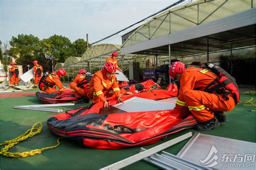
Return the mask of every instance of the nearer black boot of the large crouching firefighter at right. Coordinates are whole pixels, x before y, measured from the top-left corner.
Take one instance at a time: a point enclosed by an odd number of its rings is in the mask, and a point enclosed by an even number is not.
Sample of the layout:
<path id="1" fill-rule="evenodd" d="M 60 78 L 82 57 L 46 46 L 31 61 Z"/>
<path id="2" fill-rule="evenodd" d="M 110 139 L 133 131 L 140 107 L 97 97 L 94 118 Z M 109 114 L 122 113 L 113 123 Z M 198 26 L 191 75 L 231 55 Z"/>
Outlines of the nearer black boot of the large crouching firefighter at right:
<path id="1" fill-rule="evenodd" d="M 220 123 L 216 117 L 213 117 L 209 121 L 198 123 L 194 126 L 194 129 L 199 131 L 210 131 L 213 128 L 218 128 Z"/>

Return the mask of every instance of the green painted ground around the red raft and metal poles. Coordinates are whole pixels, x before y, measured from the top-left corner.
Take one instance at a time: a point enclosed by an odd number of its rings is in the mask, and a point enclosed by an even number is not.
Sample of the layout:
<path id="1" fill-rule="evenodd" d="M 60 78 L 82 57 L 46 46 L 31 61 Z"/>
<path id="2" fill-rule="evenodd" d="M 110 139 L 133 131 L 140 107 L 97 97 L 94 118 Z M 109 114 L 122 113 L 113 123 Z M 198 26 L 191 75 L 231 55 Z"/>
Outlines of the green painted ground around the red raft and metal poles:
<path id="1" fill-rule="evenodd" d="M 0 94 L 1 95 L 1 94 Z M 241 95 L 241 101 L 250 100 L 256 96 Z M 30 151 L 36 148 L 53 146 L 57 143 L 57 137 L 53 135 L 46 127 L 47 119 L 55 115 L 53 112 L 19 110 L 13 109 L 14 105 L 30 105 L 41 104 L 36 96 L 0 98 L 0 143 L 10 140 L 23 134 L 26 130 L 36 122 L 42 122 L 42 133 L 29 138 L 14 148 L 10 152 Z M 57 107 L 65 110 L 75 109 L 83 104 L 75 106 Z M 245 141 L 256 142 L 255 140 L 255 114 L 250 110 L 256 110 L 255 107 L 245 107 L 239 104 L 231 112 L 227 112 L 229 122 L 222 123 L 217 129 L 206 134 L 220 137 L 233 138 Z M 176 134 L 168 136 L 165 140 L 161 140 L 156 144 L 144 146 L 151 148 L 171 140 L 175 137 L 192 131 L 192 129 L 184 130 Z M 179 144 L 167 148 L 165 151 L 177 154 L 188 141 L 182 141 Z M 107 165 L 113 164 L 119 160 L 137 154 L 140 147 L 125 148 L 123 150 L 97 150 L 82 146 L 77 146 L 68 140 L 61 140 L 60 146 L 52 150 L 46 150 L 42 154 L 37 154 L 27 158 L 6 158 L 0 155 L 0 169 L 99 169 Z M 124 169 L 158 169 L 144 161 L 138 161 Z"/>

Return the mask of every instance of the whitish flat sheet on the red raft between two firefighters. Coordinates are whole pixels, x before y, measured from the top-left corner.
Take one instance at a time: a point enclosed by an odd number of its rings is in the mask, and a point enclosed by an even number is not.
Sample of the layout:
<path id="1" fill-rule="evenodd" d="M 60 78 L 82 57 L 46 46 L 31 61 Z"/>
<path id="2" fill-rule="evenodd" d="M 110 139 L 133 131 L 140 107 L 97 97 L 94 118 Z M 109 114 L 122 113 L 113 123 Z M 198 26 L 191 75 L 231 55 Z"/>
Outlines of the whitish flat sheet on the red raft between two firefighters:
<path id="1" fill-rule="evenodd" d="M 172 110 L 175 107 L 176 100 L 173 102 L 160 102 L 146 98 L 132 97 L 124 103 L 113 105 L 114 108 L 127 112 L 154 111 L 154 110 Z"/>

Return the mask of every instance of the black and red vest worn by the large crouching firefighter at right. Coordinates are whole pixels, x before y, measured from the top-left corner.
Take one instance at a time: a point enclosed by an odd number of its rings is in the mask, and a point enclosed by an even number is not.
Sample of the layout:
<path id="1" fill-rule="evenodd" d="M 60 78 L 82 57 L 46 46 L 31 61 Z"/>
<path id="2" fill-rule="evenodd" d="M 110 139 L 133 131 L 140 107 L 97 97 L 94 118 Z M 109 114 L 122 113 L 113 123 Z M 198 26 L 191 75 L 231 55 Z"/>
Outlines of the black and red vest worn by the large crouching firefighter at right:
<path id="1" fill-rule="evenodd" d="M 235 104 L 238 104 L 240 100 L 239 88 L 234 77 L 228 74 L 223 68 L 214 65 L 213 63 L 206 63 L 205 69 L 200 72 L 205 74 L 207 70 L 211 70 L 211 72 L 217 74 L 218 77 L 208 84 L 204 91 L 208 93 L 222 94 L 225 100 L 229 100 L 228 95 L 234 94 Z"/>

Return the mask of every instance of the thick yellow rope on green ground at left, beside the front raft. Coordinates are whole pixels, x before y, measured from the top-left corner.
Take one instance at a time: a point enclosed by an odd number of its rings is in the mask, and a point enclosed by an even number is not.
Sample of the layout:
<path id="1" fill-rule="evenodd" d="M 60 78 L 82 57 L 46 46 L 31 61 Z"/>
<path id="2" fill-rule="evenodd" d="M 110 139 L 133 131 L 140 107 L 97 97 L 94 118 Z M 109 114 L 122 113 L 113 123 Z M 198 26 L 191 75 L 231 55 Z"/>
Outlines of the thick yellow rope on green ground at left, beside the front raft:
<path id="1" fill-rule="evenodd" d="M 39 128 L 35 128 L 36 125 L 39 124 Z M 7 152 L 11 147 L 14 147 L 16 144 L 20 143 L 23 140 L 26 140 L 32 136 L 35 136 L 36 134 L 41 133 L 43 128 L 42 123 L 37 122 L 35 123 L 31 129 L 27 130 L 24 134 L 22 134 L 21 136 L 15 138 L 15 139 L 11 139 L 11 140 L 7 140 L 4 141 L 4 143 L 1 143 L 0 146 L 5 145 L 4 148 L 2 148 L 2 150 L 0 151 L 0 155 L 2 154 L 4 157 L 12 157 L 12 158 L 21 158 L 21 157 L 29 157 L 35 154 L 41 154 L 44 150 L 48 150 L 50 148 L 55 148 L 59 146 L 59 139 L 57 140 L 57 145 L 55 146 L 50 146 L 50 147 L 43 147 L 40 149 L 36 149 L 36 150 L 31 150 L 28 152 L 16 152 L 16 153 L 12 153 L 12 152 Z"/>

